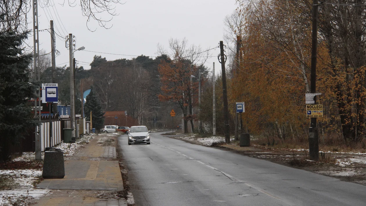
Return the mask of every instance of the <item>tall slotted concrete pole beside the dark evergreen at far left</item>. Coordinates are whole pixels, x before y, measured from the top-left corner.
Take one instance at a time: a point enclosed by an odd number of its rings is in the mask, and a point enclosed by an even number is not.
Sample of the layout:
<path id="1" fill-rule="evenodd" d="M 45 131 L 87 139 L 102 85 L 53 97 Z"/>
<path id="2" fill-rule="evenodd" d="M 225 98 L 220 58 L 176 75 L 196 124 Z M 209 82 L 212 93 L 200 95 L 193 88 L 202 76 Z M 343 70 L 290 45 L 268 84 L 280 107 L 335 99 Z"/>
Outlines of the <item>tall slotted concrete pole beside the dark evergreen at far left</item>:
<path id="1" fill-rule="evenodd" d="M 38 1 L 33 1 L 33 80 L 37 81 L 37 72 L 40 65 L 40 56 L 39 56 L 39 42 L 38 42 Z M 37 119 L 37 98 L 40 100 L 41 87 L 38 86 L 38 94 L 37 90 L 34 91 L 34 119 Z M 38 112 L 39 112 L 39 121 L 41 121 L 41 104 L 39 104 Z M 37 126 L 34 131 L 35 135 L 35 153 L 36 160 L 42 160 L 42 151 L 41 151 L 41 135 L 40 135 L 40 126 Z"/>

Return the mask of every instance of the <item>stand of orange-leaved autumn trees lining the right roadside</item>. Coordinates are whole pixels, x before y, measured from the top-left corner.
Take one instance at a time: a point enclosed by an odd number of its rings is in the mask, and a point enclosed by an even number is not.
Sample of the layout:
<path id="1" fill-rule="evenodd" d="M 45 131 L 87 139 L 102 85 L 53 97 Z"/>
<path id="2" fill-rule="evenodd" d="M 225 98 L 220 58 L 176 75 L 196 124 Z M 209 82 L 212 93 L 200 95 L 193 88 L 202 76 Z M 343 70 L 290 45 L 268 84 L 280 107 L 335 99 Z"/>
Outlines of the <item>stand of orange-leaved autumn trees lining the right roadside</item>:
<path id="1" fill-rule="evenodd" d="M 252 134 L 307 141 L 305 93 L 310 93 L 311 2 L 237 1 L 245 26 L 240 32 L 241 55 L 235 58 L 240 67 L 233 72 L 229 97 L 232 104 L 246 102 L 243 123 Z M 320 138 L 323 143 L 331 143 L 326 136 L 360 141 L 366 133 L 366 61 L 360 59 L 364 50 L 360 53 L 360 49 L 351 48 L 364 44 L 357 41 L 361 31 L 351 20 L 346 28 L 336 26 L 341 19 L 332 12 L 343 7 L 321 6 L 317 92 L 322 93 L 318 104 L 324 106 L 324 117 L 318 118 Z M 366 15 L 365 11 L 348 9 L 347 15 L 359 15 L 354 21 Z M 335 24 L 327 25 L 329 22 Z"/>

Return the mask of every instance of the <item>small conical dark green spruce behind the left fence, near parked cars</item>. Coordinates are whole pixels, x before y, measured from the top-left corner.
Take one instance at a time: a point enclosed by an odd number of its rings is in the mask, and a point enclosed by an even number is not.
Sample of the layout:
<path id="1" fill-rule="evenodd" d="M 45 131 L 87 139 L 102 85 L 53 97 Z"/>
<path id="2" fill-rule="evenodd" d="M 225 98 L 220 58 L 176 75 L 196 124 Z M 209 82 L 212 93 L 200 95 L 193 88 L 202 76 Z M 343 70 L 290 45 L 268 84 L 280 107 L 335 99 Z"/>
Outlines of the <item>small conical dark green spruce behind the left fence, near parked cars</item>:
<path id="1" fill-rule="evenodd" d="M 93 121 L 94 128 L 97 128 L 98 130 L 103 127 L 104 112 L 102 112 L 102 105 L 99 101 L 97 94 L 94 92 L 93 87 L 91 87 L 89 95 L 86 96 L 84 111 L 87 121 L 90 121 L 90 112 L 91 112 L 91 118 Z"/>

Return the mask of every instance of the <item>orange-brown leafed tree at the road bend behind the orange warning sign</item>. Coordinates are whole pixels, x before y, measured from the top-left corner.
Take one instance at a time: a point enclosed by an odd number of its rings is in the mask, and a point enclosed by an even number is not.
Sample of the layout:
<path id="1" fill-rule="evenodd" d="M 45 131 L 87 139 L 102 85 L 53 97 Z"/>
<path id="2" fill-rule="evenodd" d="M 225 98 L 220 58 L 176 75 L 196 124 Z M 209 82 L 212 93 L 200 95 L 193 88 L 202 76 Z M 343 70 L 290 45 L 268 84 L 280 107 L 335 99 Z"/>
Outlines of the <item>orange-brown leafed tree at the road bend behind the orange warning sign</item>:
<path id="1" fill-rule="evenodd" d="M 193 95 L 198 93 L 198 84 L 193 83 L 192 88 L 190 77 L 195 74 L 195 71 L 197 71 L 197 67 L 184 59 L 176 59 L 158 66 L 161 82 L 161 94 L 158 95 L 158 98 L 163 102 L 173 102 L 182 109 L 184 133 L 188 133 L 188 121 L 191 122 L 193 131 L 195 116 L 191 111 L 193 105 L 197 104 L 193 100 L 198 98 L 194 98 Z"/>

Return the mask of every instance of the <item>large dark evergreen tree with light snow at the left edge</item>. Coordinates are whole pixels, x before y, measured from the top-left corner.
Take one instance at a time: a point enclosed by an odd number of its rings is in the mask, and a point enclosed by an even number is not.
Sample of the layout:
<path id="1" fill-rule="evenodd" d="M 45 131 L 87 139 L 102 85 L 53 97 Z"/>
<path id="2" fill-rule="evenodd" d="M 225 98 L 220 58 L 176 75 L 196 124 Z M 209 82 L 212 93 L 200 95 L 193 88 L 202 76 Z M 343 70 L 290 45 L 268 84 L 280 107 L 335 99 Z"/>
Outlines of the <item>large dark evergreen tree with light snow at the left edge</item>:
<path id="1" fill-rule="evenodd" d="M 33 118 L 28 100 L 36 86 L 30 83 L 30 55 L 23 54 L 26 33 L 0 32 L 0 150 L 3 161 L 10 160 L 14 150 L 29 128 L 38 121 Z"/>

